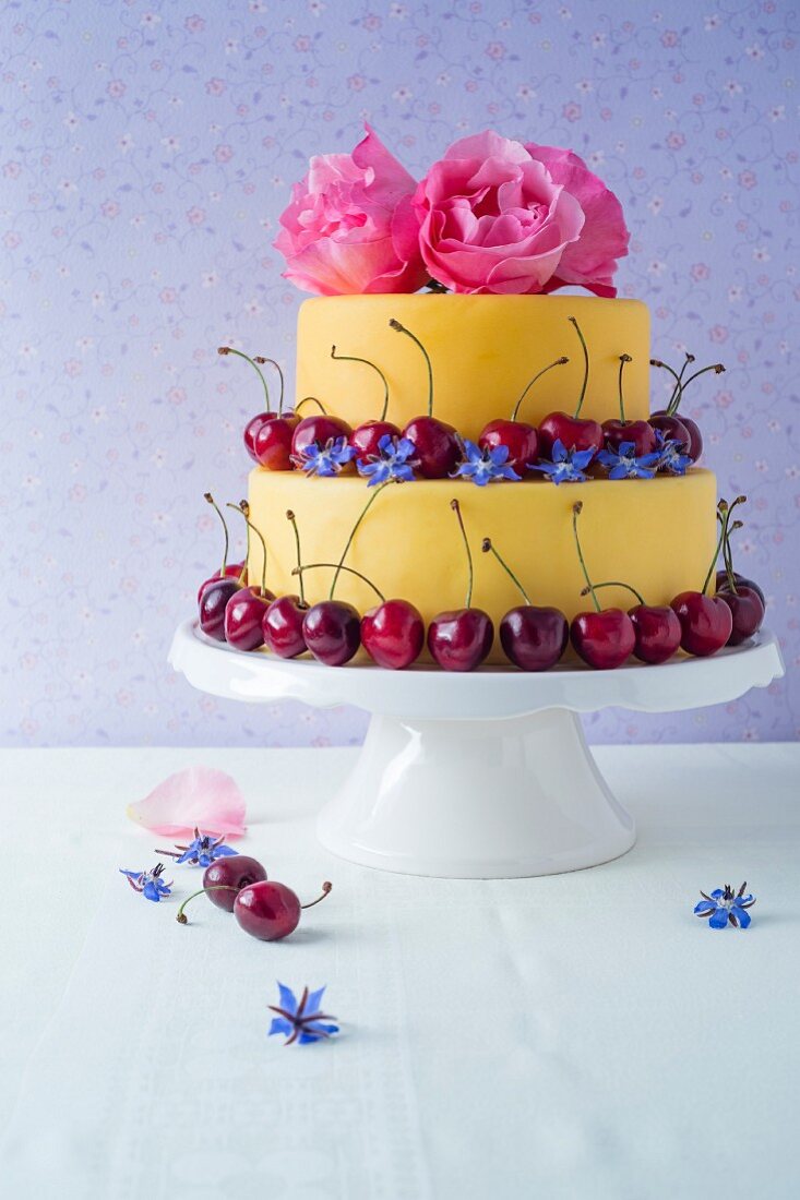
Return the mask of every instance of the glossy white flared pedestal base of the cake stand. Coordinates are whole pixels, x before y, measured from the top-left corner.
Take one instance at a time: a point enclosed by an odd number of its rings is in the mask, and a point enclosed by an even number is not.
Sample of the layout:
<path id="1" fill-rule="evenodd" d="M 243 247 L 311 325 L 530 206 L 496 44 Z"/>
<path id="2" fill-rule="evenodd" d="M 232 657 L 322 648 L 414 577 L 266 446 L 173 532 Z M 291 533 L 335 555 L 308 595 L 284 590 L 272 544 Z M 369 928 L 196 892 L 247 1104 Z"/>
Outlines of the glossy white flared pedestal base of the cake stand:
<path id="1" fill-rule="evenodd" d="M 574 871 L 635 841 L 580 720 L 557 708 L 509 720 L 374 716 L 317 834 L 363 866 L 466 878 Z"/>

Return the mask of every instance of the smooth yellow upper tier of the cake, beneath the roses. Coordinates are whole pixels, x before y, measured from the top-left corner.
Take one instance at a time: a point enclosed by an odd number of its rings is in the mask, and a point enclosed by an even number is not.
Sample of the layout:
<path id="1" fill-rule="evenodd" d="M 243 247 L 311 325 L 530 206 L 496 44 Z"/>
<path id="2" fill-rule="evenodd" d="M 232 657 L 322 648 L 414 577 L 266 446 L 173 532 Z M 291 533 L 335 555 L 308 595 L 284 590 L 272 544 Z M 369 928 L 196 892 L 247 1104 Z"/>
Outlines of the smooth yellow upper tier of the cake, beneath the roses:
<path id="1" fill-rule="evenodd" d="M 297 338 L 297 397 L 317 396 L 328 413 L 350 425 L 377 419 L 383 384 L 359 362 L 369 359 L 389 386 L 388 420 L 404 426 L 428 408 L 428 367 L 410 337 L 389 326 L 393 318 L 425 347 L 434 373 L 434 416 L 476 440 L 483 427 L 509 418 L 533 376 L 566 355 L 530 390 L 519 420 L 537 425 L 548 413 L 574 413 L 584 379 L 584 353 L 569 318 L 589 347 L 589 386 L 580 415 L 617 418 L 620 355 L 628 420 L 650 413 L 650 313 L 639 300 L 595 296 L 348 295 L 306 300 Z"/>

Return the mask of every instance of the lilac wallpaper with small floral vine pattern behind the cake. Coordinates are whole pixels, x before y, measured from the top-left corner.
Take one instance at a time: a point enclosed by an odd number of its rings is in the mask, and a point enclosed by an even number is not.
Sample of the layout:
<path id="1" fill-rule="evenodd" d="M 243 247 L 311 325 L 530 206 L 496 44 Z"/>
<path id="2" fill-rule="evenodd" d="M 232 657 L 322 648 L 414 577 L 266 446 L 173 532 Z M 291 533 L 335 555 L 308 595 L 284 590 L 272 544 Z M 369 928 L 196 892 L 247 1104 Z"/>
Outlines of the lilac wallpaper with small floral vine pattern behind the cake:
<path id="1" fill-rule="evenodd" d="M 485 127 L 574 148 L 626 206 L 621 294 L 651 306 L 655 350 L 727 362 L 692 410 L 721 492 L 751 498 L 740 569 L 788 679 L 718 709 L 608 712 L 590 736 L 794 738 L 798 22 L 778 0 L 6 0 L 2 740 L 360 738 L 359 713 L 201 695 L 166 654 L 217 559 L 202 493 L 243 494 L 259 404 L 215 347 L 292 374 L 277 215 L 365 119 L 414 174 Z"/>

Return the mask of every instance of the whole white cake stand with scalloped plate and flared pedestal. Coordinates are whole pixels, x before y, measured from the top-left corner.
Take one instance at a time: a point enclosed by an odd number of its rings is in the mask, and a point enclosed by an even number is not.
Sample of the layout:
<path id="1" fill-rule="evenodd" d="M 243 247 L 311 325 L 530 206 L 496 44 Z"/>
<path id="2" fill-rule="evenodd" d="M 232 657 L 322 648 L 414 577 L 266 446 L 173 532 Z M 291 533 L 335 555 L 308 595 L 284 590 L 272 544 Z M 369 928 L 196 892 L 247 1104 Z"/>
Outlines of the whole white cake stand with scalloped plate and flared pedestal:
<path id="1" fill-rule="evenodd" d="M 320 841 L 365 866 L 450 878 L 574 871 L 633 846 L 633 821 L 598 772 L 578 713 L 702 708 L 783 674 L 776 638 L 764 631 L 714 658 L 658 667 L 453 674 L 245 654 L 186 622 L 169 661 L 214 696 L 371 713 L 350 778 L 320 815 Z"/>

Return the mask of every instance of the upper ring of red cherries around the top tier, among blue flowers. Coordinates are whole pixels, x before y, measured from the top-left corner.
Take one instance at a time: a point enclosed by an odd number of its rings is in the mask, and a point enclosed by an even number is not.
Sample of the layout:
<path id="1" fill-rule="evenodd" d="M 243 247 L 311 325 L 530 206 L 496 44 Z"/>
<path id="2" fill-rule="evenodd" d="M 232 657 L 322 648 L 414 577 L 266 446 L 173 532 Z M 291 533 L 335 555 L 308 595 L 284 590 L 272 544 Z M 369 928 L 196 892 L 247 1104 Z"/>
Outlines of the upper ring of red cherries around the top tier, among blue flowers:
<path id="1" fill-rule="evenodd" d="M 625 365 L 632 359 L 628 354 L 620 355 L 619 374 L 619 419 L 607 420 L 602 424 L 596 420 L 580 416 L 580 412 L 586 397 L 589 384 L 589 348 L 583 331 L 574 317 L 569 317 L 575 334 L 580 341 L 584 360 L 583 385 L 578 403 L 572 414 L 554 412 L 548 414 L 538 427 L 519 419 L 520 410 L 535 384 L 548 371 L 563 366 L 569 361 L 561 356 L 549 366 L 541 370 L 527 383 L 519 400 L 514 404 L 509 419 L 490 421 L 478 437 L 478 449 L 483 454 L 505 449 L 507 456 L 505 466 L 512 472 L 521 474 L 529 469 L 537 469 L 539 463 L 553 462 L 554 448 L 556 454 L 563 448 L 571 452 L 589 452 L 585 466 L 595 463 L 595 460 L 604 450 L 617 452 L 625 443 L 632 444 L 632 454 L 639 458 L 653 455 L 659 446 L 669 446 L 676 455 L 686 456 L 692 462 L 697 462 L 703 452 L 703 437 L 695 421 L 683 413 L 679 415 L 679 408 L 687 386 L 699 376 L 708 371 L 721 372 L 724 367 L 721 362 L 694 371 L 686 377 L 686 371 L 694 355 L 687 354 L 683 367 L 680 372 L 673 370 L 659 359 L 651 359 L 653 366 L 668 371 L 674 378 L 674 388 L 665 408 L 653 413 L 649 420 L 628 421 L 625 415 L 625 402 L 622 396 L 622 372 Z M 257 413 L 245 426 L 244 443 L 250 457 L 264 467 L 267 470 L 293 470 L 308 467 L 309 455 L 323 449 L 330 449 L 334 444 L 341 444 L 352 451 L 351 461 L 341 463 L 336 473 L 353 470 L 354 466 L 368 466 L 380 461 L 381 443 L 387 438 L 394 445 L 401 439 L 410 442 L 413 446 L 414 456 L 410 466 L 417 475 L 423 479 L 446 479 L 452 475 L 459 463 L 464 461 L 464 439 L 458 431 L 444 421 L 434 416 L 434 371 L 428 350 L 420 340 L 399 320 L 392 319 L 389 325 L 393 330 L 405 334 L 419 348 L 424 356 L 428 371 L 428 407 L 426 412 L 412 418 L 405 427 L 387 420 L 389 407 L 389 385 L 381 368 L 369 359 L 356 355 L 338 354 L 336 347 L 332 347 L 330 356 L 335 361 L 359 362 L 370 367 L 382 382 L 383 402 L 381 415 L 377 420 L 364 421 L 352 428 L 339 416 L 329 415 L 324 406 L 316 396 L 304 397 L 293 412 L 283 410 L 283 373 L 274 359 L 263 356 L 249 358 L 241 350 L 228 346 L 221 346 L 219 354 L 235 354 L 244 359 L 258 373 L 265 398 L 265 408 Z M 270 408 L 269 388 L 261 370 L 270 364 L 280 377 L 280 398 L 277 409 Z M 320 408 L 318 413 L 303 416 L 302 410 L 305 404 L 314 403 Z M 386 446 L 386 442 L 383 445 Z M 560 444 L 560 446 L 557 445 Z M 628 451 L 631 452 L 631 451 Z M 598 460 L 599 461 L 599 460 Z M 656 468 L 659 469 L 659 468 Z M 517 478 L 515 475 L 506 478 Z"/>

